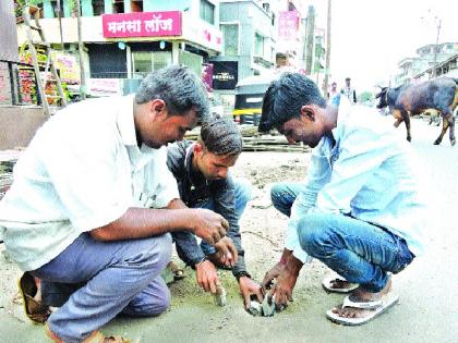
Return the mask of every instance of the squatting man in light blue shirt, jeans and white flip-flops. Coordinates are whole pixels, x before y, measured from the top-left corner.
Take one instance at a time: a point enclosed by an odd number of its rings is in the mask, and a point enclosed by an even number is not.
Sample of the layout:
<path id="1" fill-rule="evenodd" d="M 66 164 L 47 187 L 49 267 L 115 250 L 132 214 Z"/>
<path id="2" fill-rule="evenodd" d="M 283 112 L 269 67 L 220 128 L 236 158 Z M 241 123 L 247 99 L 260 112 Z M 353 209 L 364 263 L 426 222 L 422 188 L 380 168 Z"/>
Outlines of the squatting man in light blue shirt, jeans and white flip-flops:
<path id="1" fill-rule="evenodd" d="M 422 252 L 426 211 L 409 147 L 375 110 L 346 98 L 327 106 L 300 74 L 282 75 L 266 91 L 260 131 L 273 127 L 314 150 L 305 183 L 272 189 L 290 219 L 281 259 L 263 286 L 276 279 L 268 297 L 287 305 L 300 269 L 315 257 L 341 277 L 328 291 L 351 292 L 327 317 L 364 323 L 398 302 L 390 274 Z"/>

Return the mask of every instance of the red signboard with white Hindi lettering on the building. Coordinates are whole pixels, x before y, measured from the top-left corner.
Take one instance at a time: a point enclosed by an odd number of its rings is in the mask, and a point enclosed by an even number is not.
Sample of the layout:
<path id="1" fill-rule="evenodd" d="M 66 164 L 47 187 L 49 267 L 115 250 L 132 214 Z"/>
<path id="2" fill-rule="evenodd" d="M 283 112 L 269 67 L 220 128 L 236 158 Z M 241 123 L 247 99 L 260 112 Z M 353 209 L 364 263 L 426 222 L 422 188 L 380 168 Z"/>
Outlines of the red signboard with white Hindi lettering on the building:
<path id="1" fill-rule="evenodd" d="M 133 12 L 104 14 L 104 37 L 181 36 L 181 12 Z"/>

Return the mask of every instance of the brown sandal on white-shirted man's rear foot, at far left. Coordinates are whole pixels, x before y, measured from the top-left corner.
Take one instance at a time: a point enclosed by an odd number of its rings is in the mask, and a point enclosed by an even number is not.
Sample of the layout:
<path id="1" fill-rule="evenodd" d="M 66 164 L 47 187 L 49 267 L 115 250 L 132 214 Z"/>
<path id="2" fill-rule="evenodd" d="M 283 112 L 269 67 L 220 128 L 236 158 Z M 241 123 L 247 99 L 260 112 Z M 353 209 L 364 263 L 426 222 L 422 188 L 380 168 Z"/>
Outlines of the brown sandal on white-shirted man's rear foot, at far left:
<path id="1" fill-rule="evenodd" d="M 35 278 L 26 271 L 19 280 L 17 285 L 22 296 L 25 315 L 34 323 L 45 323 L 51 315 L 51 310 L 49 309 L 49 306 L 34 298 L 38 291 Z"/>

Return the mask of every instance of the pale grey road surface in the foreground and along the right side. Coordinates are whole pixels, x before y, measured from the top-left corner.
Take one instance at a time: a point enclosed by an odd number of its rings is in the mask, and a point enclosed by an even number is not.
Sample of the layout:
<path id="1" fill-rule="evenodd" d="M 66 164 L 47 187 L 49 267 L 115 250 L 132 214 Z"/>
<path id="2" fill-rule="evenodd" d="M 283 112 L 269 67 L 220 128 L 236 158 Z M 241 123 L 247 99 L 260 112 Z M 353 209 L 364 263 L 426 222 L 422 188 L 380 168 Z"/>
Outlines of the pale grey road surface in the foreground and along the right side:
<path id="1" fill-rule="evenodd" d="M 357 328 L 329 322 L 325 311 L 339 304 L 341 296 L 321 290 L 320 280 L 326 270 L 314 262 L 301 272 L 296 302 L 273 318 L 246 314 L 236 286 L 228 289 L 228 306 L 215 307 L 210 296 L 195 290 L 191 275 L 181 285 L 172 285 L 173 302 L 168 313 L 155 319 L 116 319 L 104 331 L 147 343 L 458 342 L 458 145 L 450 147 L 447 136 L 441 146 L 433 146 L 438 132 L 439 127 L 412 121 L 412 147 L 430 185 L 427 250 L 395 277 L 400 304 L 374 321 Z M 405 127 L 399 127 L 398 133 L 405 136 Z M 0 341 L 48 342 L 41 327 L 24 321 L 17 306 L 11 306 L 10 295 L 15 286 L 9 277 L 15 273 L 11 268 L 0 264 L 2 278 L 8 279 L 1 282 L 4 293 L 0 297 Z M 257 278 L 261 275 L 260 271 Z M 224 274 L 222 279 L 231 278 Z"/>

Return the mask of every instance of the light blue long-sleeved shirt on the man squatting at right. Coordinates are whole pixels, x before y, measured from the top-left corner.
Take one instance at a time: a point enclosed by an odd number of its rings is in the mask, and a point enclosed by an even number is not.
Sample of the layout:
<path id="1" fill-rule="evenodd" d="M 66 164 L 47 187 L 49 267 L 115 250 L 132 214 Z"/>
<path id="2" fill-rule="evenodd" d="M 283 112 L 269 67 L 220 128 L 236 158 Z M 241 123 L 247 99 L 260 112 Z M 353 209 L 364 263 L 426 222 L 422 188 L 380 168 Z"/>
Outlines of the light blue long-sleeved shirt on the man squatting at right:
<path id="1" fill-rule="evenodd" d="M 406 240 L 415 255 L 423 250 L 427 216 L 423 180 L 413 151 L 375 109 L 350 106 L 341 98 L 335 145 L 328 136 L 313 149 L 305 189 L 292 205 L 286 248 L 302 262 L 310 257 L 298 238 L 298 221 L 309 211 L 350 213 Z"/>

